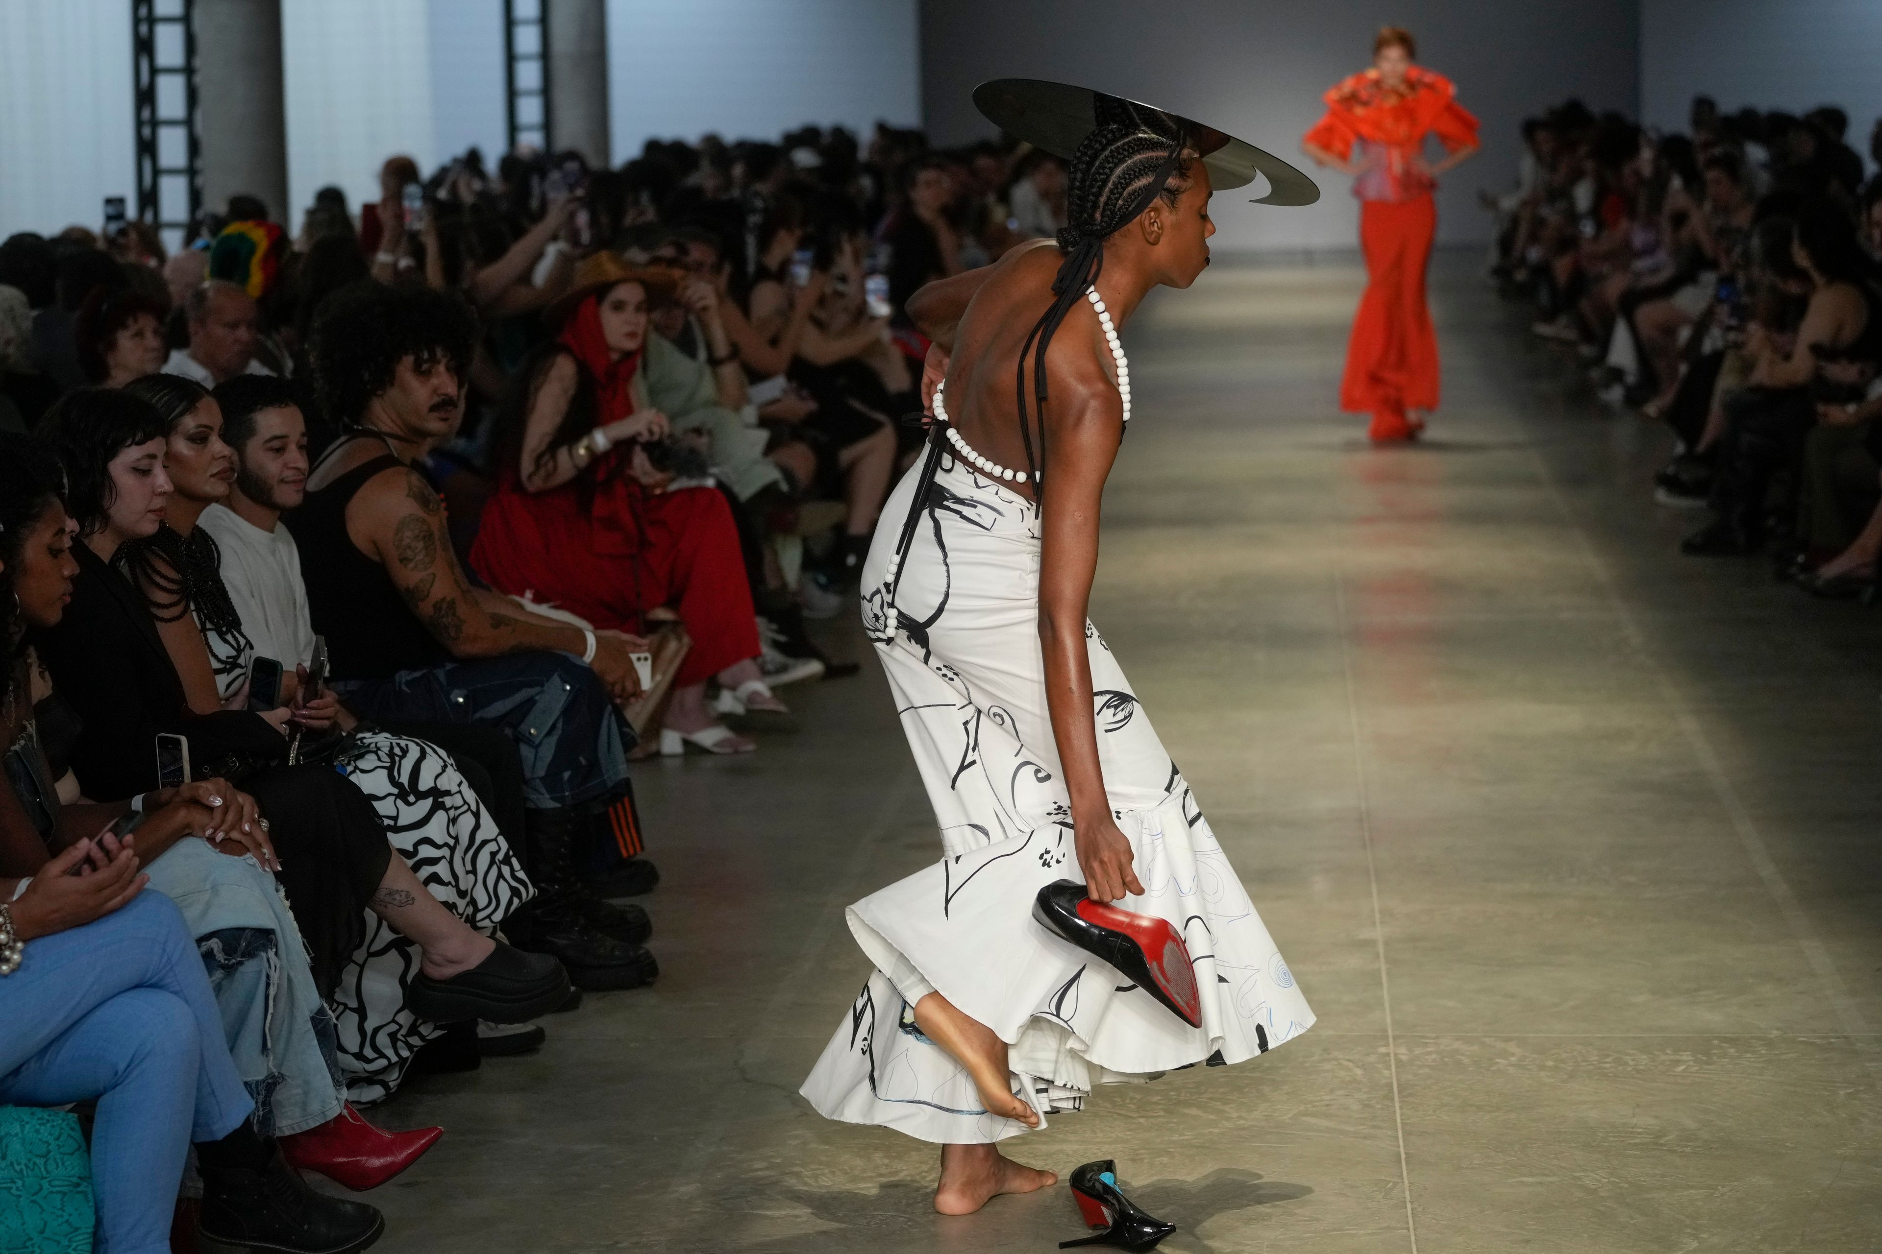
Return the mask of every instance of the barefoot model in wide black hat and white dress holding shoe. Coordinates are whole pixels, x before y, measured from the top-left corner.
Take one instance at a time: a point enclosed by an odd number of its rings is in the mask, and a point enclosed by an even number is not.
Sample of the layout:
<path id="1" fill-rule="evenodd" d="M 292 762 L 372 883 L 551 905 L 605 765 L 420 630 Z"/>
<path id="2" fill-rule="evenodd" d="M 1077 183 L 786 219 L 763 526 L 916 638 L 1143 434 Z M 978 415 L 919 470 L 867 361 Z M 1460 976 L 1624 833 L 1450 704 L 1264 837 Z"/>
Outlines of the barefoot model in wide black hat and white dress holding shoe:
<path id="1" fill-rule="evenodd" d="M 943 859 L 849 908 L 875 970 L 804 1083 L 830 1119 L 941 1143 L 949 1215 L 1054 1183 L 996 1143 L 1080 1109 L 1093 1085 L 1242 1062 L 1314 1023 L 1086 602 L 1131 419 L 1118 331 L 1152 288 L 1208 265 L 1212 188 L 1259 169 L 1261 203 L 1317 190 L 1112 96 L 1001 81 L 975 102 L 1071 158 L 1071 226 L 909 301 L 935 342 L 933 431 L 883 511 L 862 613 Z M 1093 957 L 1045 921 L 1056 882 L 1058 917 L 1171 940 L 1148 964 Z M 1159 964 L 1172 955 L 1188 961 Z"/>

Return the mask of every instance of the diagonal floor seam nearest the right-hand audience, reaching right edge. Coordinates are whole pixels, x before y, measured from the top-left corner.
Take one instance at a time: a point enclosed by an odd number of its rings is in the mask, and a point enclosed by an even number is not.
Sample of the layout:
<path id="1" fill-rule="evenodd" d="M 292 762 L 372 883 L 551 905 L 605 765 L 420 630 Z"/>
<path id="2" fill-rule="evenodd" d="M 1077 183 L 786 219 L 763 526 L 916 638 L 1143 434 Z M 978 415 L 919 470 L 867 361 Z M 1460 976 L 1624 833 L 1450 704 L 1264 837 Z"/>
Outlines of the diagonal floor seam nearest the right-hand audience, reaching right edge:
<path id="1" fill-rule="evenodd" d="M 1824 948 L 1824 942 L 1818 940 L 1816 929 L 1812 927 L 1803 906 L 1797 902 L 1795 891 L 1790 887 L 1790 880 L 1784 878 L 1784 872 L 1778 870 L 1777 861 L 1771 857 L 1771 850 L 1765 846 L 1763 835 L 1758 831 L 1758 820 L 1752 818 L 1745 801 L 1731 786 L 1731 780 L 1726 778 L 1724 763 L 1718 761 L 1718 752 L 1713 748 L 1711 737 L 1705 735 L 1705 728 L 1699 726 L 1699 720 L 1692 714 L 1684 696 L 1667 677 L 1658 652 L 1647 643 L 1647 634 L 1641 632 L 1628 600 L 1620 596 L 1620 588 L 1615 585 L 1615 579 L 1607 570 L 1607 562 L 1588 538 L 1588 530 L 1568 508 L 1568 498 L 1562 494 L 1562 487 L 1555 478 L 1555 470 L 1549 466 L 1549 459 L 1541 455 L 1541 449 L 1530 449 L 1530 457 L 1536 459 L 1549 500 L 1555 504 L 1562 523 L 1568 525 L 1568 530 L 1575 536 L 1575 547 L 1581 549 L 1583 562 L 1587 562 L 1588 570 L 1594 573 L 1596 583 L 1602 585 L 1602 592 L 1613 602 L 1615 615 L 1620 619 L 1620 628 L 1626 632 L 1628 641 L 1634 645 L 1635 652 L 1639 652 L 1652 666 L 1654 682 L 1660 688 L 1667 711 L 1673 714 L 1673 722 L 1679 724 L 1681 735 L 1686 739 L 1692 756 L 1698 760 L 1699 773 L 1705 775 L 1705 782 L 1711 786 L 1713 797 L 1726 812 L 1726 822 L 1739 839 L 1739 848 L 1745 852 L 1746 861 L 1750 861 L 1752 872 L 1763 884 L 1765 893 L 1771 897 L 1771 904 L 1777 906 L 1777 912 L 1790 927 L 1792 940 L 1795 940 L 1797 948 L 1803 949 L 1805 963 L 1810 966 L 1818 983 L 1824 985 L 1831 1006 L 1837 1010 L 1837 1017 L 1842 1019 L 1844 1032 L 1848 1036 L 1867 1036 L 1871 1032 L 1869 1021 L 1863 1017 L 1861 1010 L 1856 1008 L 1856 1000 L 1850 996 L 1842 972 L 1837 970 L 1837 963 L 1829 955 L 1829 949 Z"/>

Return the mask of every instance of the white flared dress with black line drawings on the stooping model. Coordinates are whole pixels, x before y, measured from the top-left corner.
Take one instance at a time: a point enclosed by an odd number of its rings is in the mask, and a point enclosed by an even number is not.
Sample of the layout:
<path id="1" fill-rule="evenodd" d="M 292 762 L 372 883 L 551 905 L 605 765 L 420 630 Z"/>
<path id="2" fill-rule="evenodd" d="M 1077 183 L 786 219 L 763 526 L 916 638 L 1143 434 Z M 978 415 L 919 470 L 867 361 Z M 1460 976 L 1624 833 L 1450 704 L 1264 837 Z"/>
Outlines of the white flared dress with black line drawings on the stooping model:
<path id="1" fill-rule="evenodd" d="M 1118 904 L 1182 933 L 1203 1027 L 1031 917 L 1043 886 L 1084 878 L 1046 713 L 1039 517 L 1009 487 L 943 457 L 890 607 L 888 558 L 918 478 L 920 466 L 883 509 L 862 619 L 933 803 L 943 857 L 849 908 L 875 970 L 804 1096 L 830 1119 L 924 1141 L 1026 1132 L 990 1115 L 965 1070 L 915 1027 L 911 1008 L 932 991 L 1007 1042 L 1013 1090 L 1041 1126 L 1080 1109 L 1093 1085 L 1242 1062 L 1304 1032 L 1314 1011 L 1090 624 L 1105 792 L 1144 886 Z"/>

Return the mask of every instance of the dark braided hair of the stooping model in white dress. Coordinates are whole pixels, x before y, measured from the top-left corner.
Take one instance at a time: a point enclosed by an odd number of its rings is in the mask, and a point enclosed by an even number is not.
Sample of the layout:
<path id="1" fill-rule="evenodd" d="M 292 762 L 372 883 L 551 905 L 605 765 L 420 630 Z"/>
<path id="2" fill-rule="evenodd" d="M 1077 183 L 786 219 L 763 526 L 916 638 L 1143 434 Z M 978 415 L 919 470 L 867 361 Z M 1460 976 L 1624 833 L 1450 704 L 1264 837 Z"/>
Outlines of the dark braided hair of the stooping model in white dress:
<path id="1" fill-rule="evenodd" d="M 1016 367 L 1020 442 L 1026 446 L 1026 468 L 1033 474 L 1035 509 L 1045 508 L 1046 493 L 1046 348 L 1105 269 L 1105 241 L 1135 222 L 1157 197 L 1174 205 L 1188 188 L 1191 152 L 1186 150 L 1186 135 L 1174 118 L 1116 96 L 1097 96 L 1093 105 L 1097 126 L 1071 160 L 1067 226 L 1058 233 L 1065 259 L 1052 280 L 1054 301 L 1020 346 Z M 1033 410 L 1039 415 L 1037 449 L 1026 404 L 1028 353 L 1033 359 Z"/>

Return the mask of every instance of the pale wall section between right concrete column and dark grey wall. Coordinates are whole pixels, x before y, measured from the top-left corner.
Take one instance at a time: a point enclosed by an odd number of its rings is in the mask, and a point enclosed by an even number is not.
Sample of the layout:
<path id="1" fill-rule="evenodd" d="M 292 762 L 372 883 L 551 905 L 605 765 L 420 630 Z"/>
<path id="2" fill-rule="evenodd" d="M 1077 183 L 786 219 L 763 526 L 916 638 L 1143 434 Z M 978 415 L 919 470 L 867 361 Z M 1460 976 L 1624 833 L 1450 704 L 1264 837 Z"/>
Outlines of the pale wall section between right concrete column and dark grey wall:
<path id="1" fill-rule="evenodd" d="M 608 139 L 775 139 L 922 117 L 917 0 L 608 0 Z"/>

